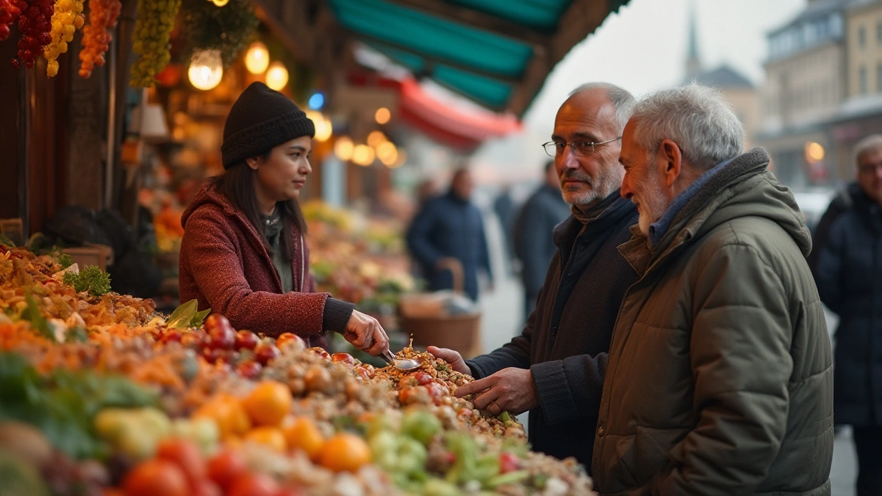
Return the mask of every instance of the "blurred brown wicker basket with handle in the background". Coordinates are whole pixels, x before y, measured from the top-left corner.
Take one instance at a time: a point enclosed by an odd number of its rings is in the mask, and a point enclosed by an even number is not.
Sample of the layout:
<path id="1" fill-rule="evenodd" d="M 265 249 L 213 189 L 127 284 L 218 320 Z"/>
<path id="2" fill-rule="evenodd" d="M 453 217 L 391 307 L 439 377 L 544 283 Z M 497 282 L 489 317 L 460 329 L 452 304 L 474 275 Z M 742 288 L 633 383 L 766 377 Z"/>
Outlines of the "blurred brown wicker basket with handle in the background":
<path id="1" fill-rule="evenodd" d="M 453 273 L 453 289 L 462 293 L 463 274 L 462 265 L 457 259 L 442 259 L 439 265 Z M 419 300 L 421 297 L 428 299 L 430 295 L 413 295 L 412 298 Z M 407 302 L 406 302 L 407 303 Z M 414 338 L 414 345 L 424 348 L 434 345 L 440 348 L 455 349 L 463 357 L 475 357 L 481 354 L 481 313 L 465 315 L 429 315 L 422 312 L 414 312 L 408 309 L 427 308 L 431 304 L 401 304 L 399 307 L 399 319 L 401 330 Z"/>

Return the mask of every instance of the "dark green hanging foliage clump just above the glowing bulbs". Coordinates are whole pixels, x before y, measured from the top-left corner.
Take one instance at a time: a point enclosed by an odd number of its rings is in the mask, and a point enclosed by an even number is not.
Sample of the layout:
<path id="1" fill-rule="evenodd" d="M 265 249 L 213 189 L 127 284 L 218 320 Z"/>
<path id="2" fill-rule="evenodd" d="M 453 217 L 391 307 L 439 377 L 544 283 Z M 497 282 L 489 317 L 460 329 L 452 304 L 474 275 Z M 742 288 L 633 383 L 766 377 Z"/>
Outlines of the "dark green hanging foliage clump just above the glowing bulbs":
<path id="1" fill-rule="evenodd" d="M 219 7 L 206 0 L 183 0 L 182 33 L 187 36 L 183 60 L 189 61 L 196 50 L 219 50 L 224 68 L 257 32 L 260 21 L 250 0 L 229 0 Z"/>

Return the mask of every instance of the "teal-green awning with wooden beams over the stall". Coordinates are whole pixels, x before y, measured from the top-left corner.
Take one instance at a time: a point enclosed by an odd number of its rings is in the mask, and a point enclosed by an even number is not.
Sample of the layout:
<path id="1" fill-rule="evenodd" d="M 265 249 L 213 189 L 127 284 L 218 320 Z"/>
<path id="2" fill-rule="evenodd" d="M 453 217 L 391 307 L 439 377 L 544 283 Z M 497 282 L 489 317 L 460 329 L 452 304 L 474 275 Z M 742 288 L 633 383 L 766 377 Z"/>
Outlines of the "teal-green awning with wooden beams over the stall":
<path id="1" fill-rule="evenodd" d="M 329 0 L 356 39 L 497 111 L 523 115 L 572 46 L 627 0 Z"/>

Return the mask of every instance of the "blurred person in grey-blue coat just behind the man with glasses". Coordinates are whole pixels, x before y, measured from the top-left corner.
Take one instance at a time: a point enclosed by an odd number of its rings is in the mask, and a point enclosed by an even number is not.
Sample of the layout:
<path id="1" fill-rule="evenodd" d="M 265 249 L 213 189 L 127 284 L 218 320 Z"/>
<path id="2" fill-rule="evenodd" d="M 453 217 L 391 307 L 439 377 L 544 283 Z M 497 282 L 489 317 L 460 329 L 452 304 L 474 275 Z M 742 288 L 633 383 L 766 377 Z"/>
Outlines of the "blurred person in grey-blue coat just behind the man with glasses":
<path id="1" fill-rule="evenodd" d="M 514 223 L 514 253 L 520 260 L 520 282 L 524 285 L 524 320 L 536 307 L 536 297 L 545 282 L 549 263 L 557 252 L 551 231 L 570 216 L 570 206 L 560 192 L 554 161 L 545 164 L 545 184 L 520 208 Z"/>

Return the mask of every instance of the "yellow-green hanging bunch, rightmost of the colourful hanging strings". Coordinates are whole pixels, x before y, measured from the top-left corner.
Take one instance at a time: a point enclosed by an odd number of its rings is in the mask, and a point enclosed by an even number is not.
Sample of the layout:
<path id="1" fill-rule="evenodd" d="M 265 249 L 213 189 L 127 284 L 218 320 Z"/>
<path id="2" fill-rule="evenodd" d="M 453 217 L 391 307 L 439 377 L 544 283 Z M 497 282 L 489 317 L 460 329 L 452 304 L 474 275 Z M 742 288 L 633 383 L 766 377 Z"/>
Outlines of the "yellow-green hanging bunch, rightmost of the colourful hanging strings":
<path id="1" fill-rule="evenodd" d="M 168 40 L 180 8 L 181 0 L 138 0 L 138 19 L 132 35 L 132 51 L 138 60 L 131 64 L 130 86 L 153 86 L 154 76 L 168 65 Z"/>

